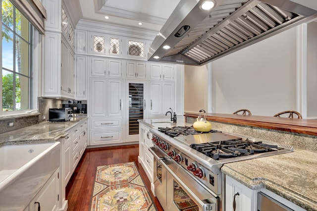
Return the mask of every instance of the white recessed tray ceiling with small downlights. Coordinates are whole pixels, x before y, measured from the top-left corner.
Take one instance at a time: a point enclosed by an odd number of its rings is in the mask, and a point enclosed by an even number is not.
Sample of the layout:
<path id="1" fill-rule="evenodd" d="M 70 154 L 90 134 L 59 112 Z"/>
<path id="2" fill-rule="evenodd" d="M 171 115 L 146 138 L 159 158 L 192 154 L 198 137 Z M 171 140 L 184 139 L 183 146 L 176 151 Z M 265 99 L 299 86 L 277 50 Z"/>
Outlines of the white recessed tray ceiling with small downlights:
<path id="1" fill-rule="evenodd" d="M 159 32 L 179 1 L 65 0 L 64 3 L 72 8 L 68 12 L 75 25 L 83 19 Z"/>

